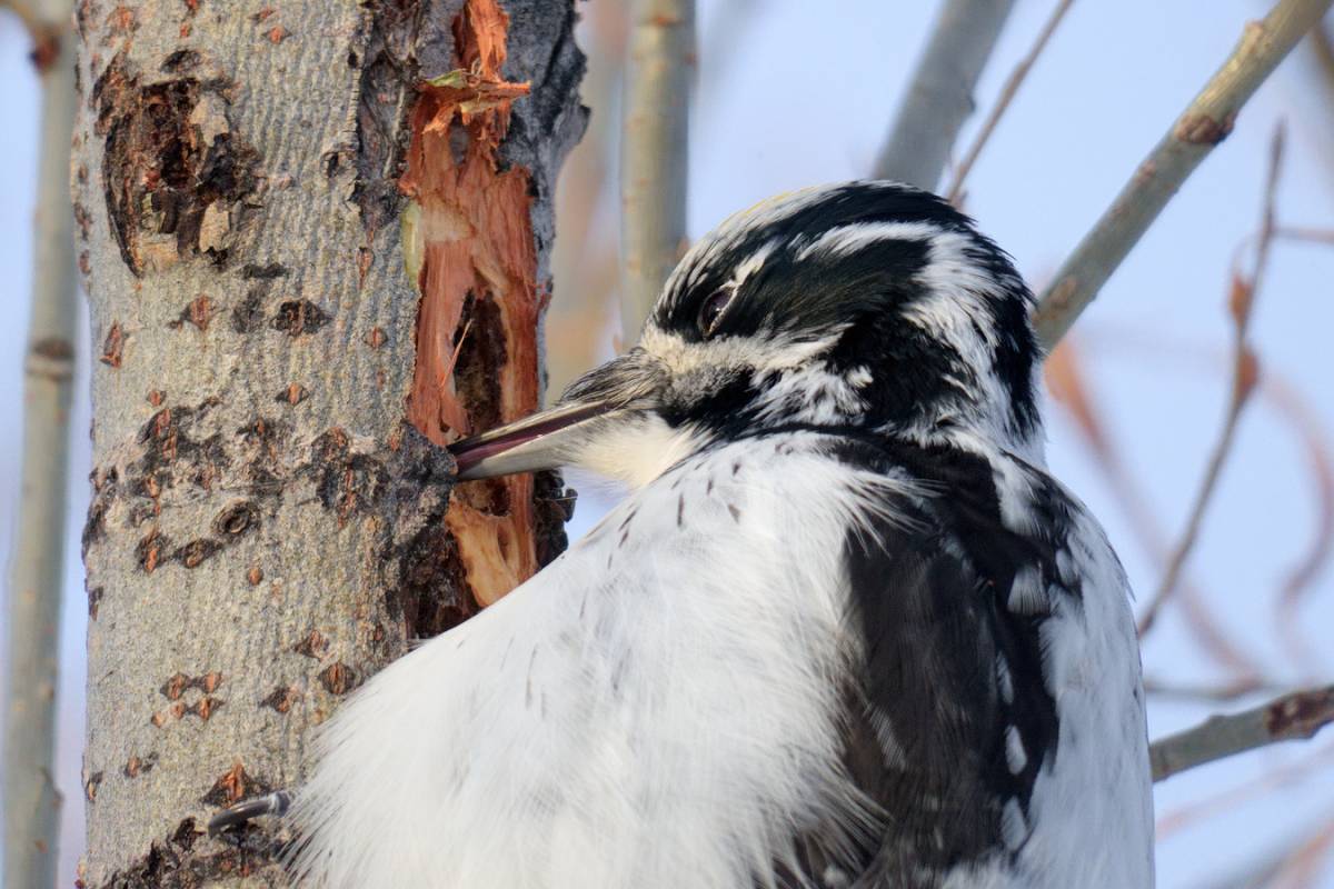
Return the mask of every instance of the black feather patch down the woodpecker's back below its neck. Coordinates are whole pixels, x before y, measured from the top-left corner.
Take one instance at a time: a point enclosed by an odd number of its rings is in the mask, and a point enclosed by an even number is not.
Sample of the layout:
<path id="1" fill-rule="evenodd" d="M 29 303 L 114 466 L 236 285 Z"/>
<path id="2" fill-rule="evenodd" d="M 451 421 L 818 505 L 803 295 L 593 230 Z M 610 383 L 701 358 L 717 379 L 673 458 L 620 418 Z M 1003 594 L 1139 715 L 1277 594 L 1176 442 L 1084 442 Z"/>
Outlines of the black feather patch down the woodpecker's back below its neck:
<path id="1" fill-rule="evenodd" d="M 794 837 L 798 872 L 780 868 L 779 885 L 930 889 L 955 866 L 1013 857 L 1027 836 L 1023 826 L 1007 832 L 1003 813 L 1013 801 L 1027 820 L 1038 772 L 1055 757 L 1057 709 L 1039 638 L 1050 608 L 1018 614 L 1007 601 L 1026 568 L 1039 572 L 1043 589 L 1078 601 L 1057 570 L 1070 504 L 1029 470 L 1041 530 L 1019 533 L 1003 522 L 991 466 L 979 456 L 868 440 L 850 440 L 834 456 L 938 493 L 888 504 L 894 520 L 868 517 L 846 544 L 863 661 L 847 689 L 844 765 L 878 806 L 880 834 L 850 860 L 838 852 L 842 824 L 807 830 Z M 1010 726 L 1026 754 L 1021 769 L 1006 758 Z M 1011 844 L 998 845 L 1007 836 Z"/>

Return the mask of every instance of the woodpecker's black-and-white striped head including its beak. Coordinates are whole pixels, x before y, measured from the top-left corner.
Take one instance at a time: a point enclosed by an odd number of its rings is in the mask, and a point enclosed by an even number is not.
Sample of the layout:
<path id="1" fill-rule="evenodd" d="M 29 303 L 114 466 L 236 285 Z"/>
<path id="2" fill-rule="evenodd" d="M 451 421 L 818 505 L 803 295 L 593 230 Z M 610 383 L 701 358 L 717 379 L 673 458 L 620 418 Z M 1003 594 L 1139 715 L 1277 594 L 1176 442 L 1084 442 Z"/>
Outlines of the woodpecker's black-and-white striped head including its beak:
<path id="1" fill-rule="evenodd" d="M 630 352 L 451 450 L 466 480 L 578 465 L 631 486 L 783 429 L 980 436 L 1041 458 L 1031 305 L 1010 257 L 942 199 L 803 189 L 698 241 Z"/>

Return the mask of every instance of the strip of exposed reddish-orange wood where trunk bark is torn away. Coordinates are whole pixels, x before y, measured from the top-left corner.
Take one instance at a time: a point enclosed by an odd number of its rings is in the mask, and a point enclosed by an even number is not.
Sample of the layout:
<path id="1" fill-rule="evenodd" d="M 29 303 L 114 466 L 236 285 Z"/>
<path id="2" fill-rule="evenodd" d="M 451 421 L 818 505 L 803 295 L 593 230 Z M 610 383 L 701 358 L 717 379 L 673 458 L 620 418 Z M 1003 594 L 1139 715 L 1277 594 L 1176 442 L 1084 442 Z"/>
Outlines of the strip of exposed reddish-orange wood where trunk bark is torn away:
<path id="1" fill-rule="evenodd" d="M 536 248 L 531 179 L 502 169 L 511 104 L 500 73 L 508 16 L 468 0 L 454 21 L 456 68 L 420 87 L 399 188 L 404 259 L 422 293 L 408 420 L 443 445 L 538 407 Z M 531 476 L 460 485 L 446 516 L 482 605 L 538 568 Z"/>

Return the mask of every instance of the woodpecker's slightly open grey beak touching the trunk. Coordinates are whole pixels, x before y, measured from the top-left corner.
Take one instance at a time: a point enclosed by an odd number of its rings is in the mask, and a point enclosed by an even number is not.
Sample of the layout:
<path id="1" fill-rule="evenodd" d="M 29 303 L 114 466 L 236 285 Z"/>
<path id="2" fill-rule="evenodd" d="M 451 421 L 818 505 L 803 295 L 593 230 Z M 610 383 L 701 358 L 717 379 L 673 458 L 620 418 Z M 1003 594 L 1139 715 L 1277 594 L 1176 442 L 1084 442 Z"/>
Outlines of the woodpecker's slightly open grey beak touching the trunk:
<path id="1" fill-rule="evenodd" d="M 579 462 L 579 453 L 614 415 L 656 404 L 663 373 L 640 349 L 590 371 L 550 411 L 450 445 L 460 481 L 536 472 Z"/>

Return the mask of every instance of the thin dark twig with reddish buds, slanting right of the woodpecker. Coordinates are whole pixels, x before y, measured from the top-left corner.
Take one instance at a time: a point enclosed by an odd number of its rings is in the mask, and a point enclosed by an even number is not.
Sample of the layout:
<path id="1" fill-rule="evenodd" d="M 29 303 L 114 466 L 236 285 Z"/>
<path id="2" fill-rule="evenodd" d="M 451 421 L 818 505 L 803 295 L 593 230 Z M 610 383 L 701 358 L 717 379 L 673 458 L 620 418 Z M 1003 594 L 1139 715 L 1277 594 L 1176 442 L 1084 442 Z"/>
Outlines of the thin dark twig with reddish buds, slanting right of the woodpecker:
<path id="1" fill-rule="evenodd" d="M 1233 444 L 1237 440 L 1237 427 L 1242 411 L 1255 391 L 1255 383 L 1259 377 L 1258 360 L 1255 353 L 1251 352 L 1246 335 L 1250 328 L 1251 309 L 1255 305 L 1255 295 L 1259 292 L 1261 281 L 1269 267 L 1270 247 L 1274 243 L 1274 200 L 1278 191 L 1278 176 L 1282 163 L 1283 128 L 1279 125 L 1274 131 L 1270 147 L 1269 175 L 1265 184 L 1265 211 L 1261 223 L 1261 237 L 1255 247 L 1255 269 L 1251 272 L 1250 279 L 1245 277 L 1239 269 L 1233 269 L 1233 285 L 1229 295 L 1229 308 L 1233 316 L 1233 385 L 1231 397 L 1227 403 L 1227 415 L 1223 419 L 1223 428 L 1218 436 L 1218 441 L 1214 444 L 1214 450 L 1209 457 L 1205 478 L 1195 492 L 1190 517 L 1186 521 L 1186 530 L 1182 532 L 1181 540 L 1167 560 L 1167 568 L 1163 570 L 1162 581 L 1158 584 L 1158 592 L 1154 593 L 1143 616 L 1139 618 L 1141 637 L 1153 629 L 1154 621 L 1162 612 L 1163 605 L 1167 604 L 1167 600 L 1177 589 L 1182 568 L 1190 556 L 1190 550 L 1194 549 L 1195 541 L 1199 538 L 1205 513 L 1209 510 L 1209 504 L 1213 500 L 1214 490 L 1218 488 L 1223 465 L 1227 462 L 1227 456 L 1231 453 Z"/>

